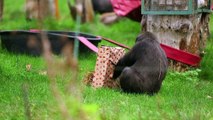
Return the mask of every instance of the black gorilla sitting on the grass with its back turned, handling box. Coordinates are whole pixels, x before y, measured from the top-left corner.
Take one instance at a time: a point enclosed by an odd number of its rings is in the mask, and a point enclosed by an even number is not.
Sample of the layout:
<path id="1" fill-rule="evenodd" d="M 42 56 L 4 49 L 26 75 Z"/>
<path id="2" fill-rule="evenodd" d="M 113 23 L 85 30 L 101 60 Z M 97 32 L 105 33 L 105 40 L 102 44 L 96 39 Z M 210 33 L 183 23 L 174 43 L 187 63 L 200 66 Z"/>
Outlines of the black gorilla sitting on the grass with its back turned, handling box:
<path id="1" fill-rule="evenodd" d="M 133 48 L 115 66 L 113 79 L 127 93 L 157 93 L 168 67 L 165 52 L 150 32 L 140 34 Z"/>

